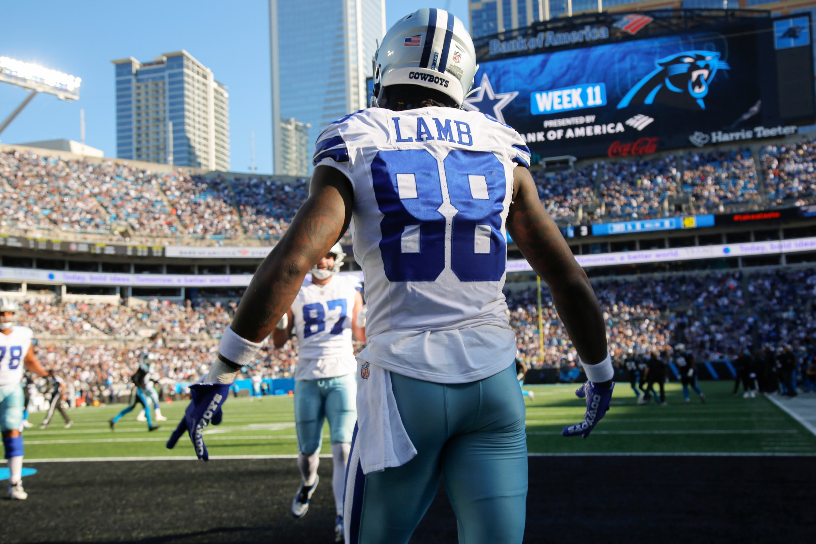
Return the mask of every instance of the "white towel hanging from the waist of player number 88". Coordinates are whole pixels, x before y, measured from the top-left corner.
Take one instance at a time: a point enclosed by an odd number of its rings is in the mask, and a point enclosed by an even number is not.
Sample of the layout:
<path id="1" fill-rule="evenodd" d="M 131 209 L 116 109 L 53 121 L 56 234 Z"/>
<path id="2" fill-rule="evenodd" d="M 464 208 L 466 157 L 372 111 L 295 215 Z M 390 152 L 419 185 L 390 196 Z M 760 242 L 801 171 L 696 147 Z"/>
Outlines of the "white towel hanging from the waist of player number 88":
<path id="1" fill-rule="evenodd" d="M 364 474 L 400 467 L 416 455 L 402 425 L 391 373 L 357 358 L 357 443 Z"/>

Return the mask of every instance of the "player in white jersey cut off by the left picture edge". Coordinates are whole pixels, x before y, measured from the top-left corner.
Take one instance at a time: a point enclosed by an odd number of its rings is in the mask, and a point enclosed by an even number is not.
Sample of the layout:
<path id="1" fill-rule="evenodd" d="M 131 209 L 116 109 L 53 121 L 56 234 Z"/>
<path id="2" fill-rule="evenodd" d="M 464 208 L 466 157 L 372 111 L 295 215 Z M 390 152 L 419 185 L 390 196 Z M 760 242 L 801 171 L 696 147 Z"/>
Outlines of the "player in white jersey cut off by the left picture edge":
<path id="1" fill-rule="evenodd" d="M 20 306 L 14 300 L 0 299 L 0 430 L 11 472 L 7 497 L 23 500 L 29 494 L 23 489 L 22 478 L 23 435 L 20 426 L 25 405 L 20 381 L 24 369 L 41 378 L 47 373 L 34 357 L 31 329 L 14 324 L 17 312 L 20 312 Z"/>

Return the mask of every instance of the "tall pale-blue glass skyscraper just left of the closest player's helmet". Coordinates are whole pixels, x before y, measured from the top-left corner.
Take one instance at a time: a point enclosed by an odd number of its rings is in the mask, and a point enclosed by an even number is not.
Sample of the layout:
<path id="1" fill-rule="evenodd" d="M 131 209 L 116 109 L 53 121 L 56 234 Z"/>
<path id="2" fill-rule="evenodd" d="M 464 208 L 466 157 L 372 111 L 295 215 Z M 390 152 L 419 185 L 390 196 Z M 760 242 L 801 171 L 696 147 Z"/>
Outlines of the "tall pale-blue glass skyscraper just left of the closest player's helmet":
<path id="1" fill-rule="evenodd" d="M 269 0 L 276 174 L 286 174 L 282 123 L 311 126 L 311 154 L 326 125 L 367 106 L 366 77 L 384 34 L 385 0 Z"/>

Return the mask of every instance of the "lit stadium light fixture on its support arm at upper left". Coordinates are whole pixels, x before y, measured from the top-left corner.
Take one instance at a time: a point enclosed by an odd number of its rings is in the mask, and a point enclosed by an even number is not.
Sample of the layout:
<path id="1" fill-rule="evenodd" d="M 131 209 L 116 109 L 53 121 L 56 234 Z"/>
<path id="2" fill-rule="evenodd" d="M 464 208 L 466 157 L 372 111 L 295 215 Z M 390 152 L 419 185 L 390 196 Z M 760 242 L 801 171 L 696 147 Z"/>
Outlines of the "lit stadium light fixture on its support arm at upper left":
<path id="1" fill-rule="evenodd" d="M 0 134 L 2 134 L 2 131 L 6 130 L 6 127 L 14 121 L 14 118 L 23 111 L 23 108 L 29 105 L 29 102 L 39 92 L 55 95 L 58 99 L 68 100 L 69 102 L 79 100 L 79 86 L 82 83 L 82 78 L 47 69 L 38 64 L 30 64 L 22 60 L 0 56 L 0 82 L 21 86 L 30 92 L 20 105 L 0 123 Z"/>

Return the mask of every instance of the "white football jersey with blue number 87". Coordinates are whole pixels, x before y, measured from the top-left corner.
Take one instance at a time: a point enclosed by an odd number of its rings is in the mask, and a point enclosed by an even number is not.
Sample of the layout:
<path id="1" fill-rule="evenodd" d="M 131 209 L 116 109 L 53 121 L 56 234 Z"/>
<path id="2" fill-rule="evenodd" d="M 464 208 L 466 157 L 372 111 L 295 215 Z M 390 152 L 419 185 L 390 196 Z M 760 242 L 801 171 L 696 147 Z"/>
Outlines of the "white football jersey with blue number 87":
<path id="1" fill-rule="evenodd" d="M 344 376 L 357 361 L 352 346 L 352 312 L 360 280 L 335 274 L 326 285 L 300 288 L 292 315 L 298 337 L 296 379 Z"/>

